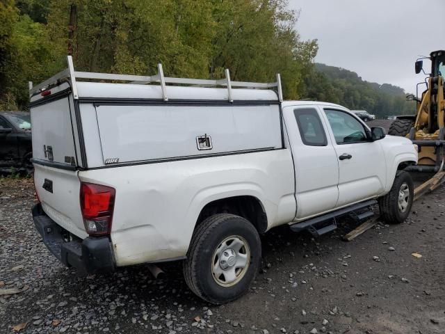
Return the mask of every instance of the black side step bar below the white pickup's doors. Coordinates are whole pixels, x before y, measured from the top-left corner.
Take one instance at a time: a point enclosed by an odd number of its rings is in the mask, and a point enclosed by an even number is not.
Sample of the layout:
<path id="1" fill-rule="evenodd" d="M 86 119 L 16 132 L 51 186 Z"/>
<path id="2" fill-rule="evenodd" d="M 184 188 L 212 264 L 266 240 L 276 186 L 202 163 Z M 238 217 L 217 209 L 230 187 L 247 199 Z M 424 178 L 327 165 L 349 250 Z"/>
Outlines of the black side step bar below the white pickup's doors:
<path id="1" fill-rule="evenodd" d="M 335 220 L 335 218 L 345 216 L 346 214 L 350 214 L 351 212 L 355 212 L 371 205 L 375 205 L 376 203 L 377 200 L 366 200 L 365 202 L 360 202 L 348 207 L 343 207 L 343 209 L 338 209 L 336 211 L 323 214 L 322 216 L 308 219 L 307 221 L 303 221 L 302 223 L 295 223 L 291 225 L 291 230 L 293 232 L 309 230 L 309 232 L 311 232 L 314 237 L 318 237 L 337 228 L 337 221 Z M 359 221 L 363 221 L 364 219 L 373 216 L 373 212 L 364 212 L 362 214 L 357 214 L 356 216 Z"/>

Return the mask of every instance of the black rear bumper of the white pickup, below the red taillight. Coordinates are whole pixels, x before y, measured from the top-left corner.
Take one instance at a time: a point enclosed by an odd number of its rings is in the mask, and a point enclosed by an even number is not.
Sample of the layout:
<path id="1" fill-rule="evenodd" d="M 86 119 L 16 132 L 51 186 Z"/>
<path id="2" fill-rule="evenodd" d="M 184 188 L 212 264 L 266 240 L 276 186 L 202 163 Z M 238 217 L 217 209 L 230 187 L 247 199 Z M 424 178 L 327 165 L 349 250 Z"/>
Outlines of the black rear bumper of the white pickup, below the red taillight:
<path id="1" fill-rule="evenodd" d="M 113 248 L 108 237 L 88 237 L 67 242 L 63 237 L 63 229 L 44 213 L 40 203 L 33 206 L 32 214 L 43 243 L 65 266 L 86 273 L 115 269 Z"/>

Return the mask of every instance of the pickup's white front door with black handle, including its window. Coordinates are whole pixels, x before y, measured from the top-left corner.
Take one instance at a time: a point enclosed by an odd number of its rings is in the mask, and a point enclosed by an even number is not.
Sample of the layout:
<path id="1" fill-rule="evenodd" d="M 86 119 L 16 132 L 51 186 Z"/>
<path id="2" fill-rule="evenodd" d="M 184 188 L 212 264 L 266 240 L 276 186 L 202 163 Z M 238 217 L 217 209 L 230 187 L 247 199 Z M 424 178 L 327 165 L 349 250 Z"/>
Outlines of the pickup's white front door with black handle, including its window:
<path id="1" fill-rule="evenodd" d="M 324 113 L 339 163 L 337 207 L 382 193 L 387 168 L 381 143 L 369 141 L 365 125 L 348 111 L 325 108 Z"/>

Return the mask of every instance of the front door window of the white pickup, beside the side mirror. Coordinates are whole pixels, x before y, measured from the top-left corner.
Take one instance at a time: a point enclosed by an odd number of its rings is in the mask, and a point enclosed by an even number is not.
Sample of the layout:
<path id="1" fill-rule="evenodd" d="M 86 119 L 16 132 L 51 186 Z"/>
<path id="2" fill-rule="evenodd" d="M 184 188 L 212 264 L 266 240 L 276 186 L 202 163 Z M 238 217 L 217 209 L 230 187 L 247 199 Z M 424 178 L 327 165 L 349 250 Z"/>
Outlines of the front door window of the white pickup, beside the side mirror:
<path id="1" fill-rule="evenodd" d="M 362 143 L 368 141 L 362 123 L 350 114 L 332 109 L 325 109 L 337 144 Z"/>

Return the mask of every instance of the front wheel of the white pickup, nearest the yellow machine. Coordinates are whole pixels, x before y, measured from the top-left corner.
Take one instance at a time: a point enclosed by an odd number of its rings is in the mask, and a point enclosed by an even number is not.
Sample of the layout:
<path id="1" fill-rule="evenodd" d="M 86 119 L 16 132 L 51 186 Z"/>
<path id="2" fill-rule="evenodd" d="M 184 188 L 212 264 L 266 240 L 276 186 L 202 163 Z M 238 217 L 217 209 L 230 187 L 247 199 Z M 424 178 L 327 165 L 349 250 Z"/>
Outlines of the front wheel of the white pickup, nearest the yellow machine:
<path id="1" fill-rule="evenodd" d="M 401 200 L 403 197 L 401 191 L 404 192 L 404 201 Z M 403 223 L 410 216 L 413 199 L 414 183 L 411 175 L 399 170 L 389 193 L 378 200 L 380 216 L 389 224 Z"/>

